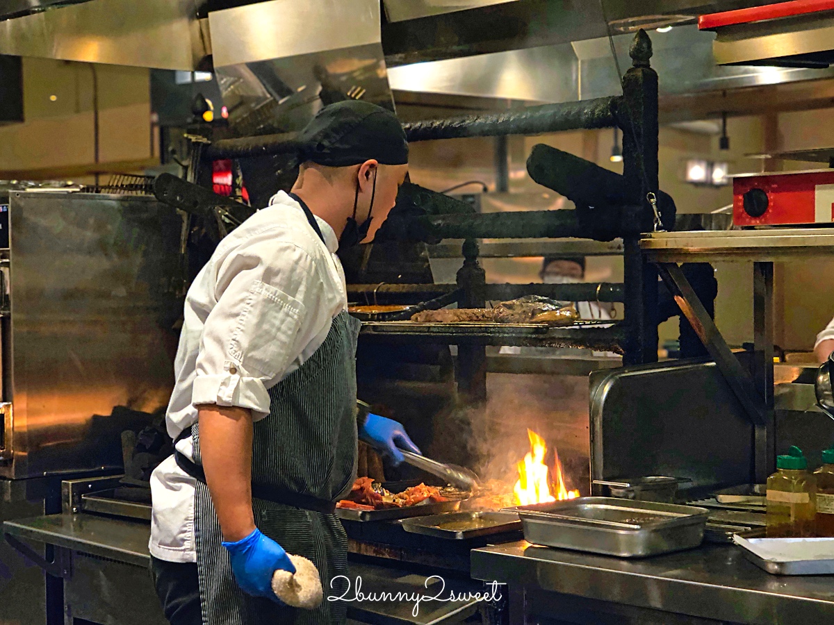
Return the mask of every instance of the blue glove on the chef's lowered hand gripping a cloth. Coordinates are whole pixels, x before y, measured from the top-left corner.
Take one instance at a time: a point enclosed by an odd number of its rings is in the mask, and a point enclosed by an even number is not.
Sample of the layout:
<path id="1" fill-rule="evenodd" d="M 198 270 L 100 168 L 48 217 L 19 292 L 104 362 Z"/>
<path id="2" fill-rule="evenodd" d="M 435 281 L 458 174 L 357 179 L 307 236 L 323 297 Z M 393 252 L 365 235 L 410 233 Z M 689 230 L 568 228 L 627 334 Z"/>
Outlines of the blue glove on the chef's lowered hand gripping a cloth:
<path id="1" fill-rule="evenodd" d="M 254 597 L 267 597 L 284 605 L 272 592 L 272 575 L 275 571 L 280 568 L 295 572 L 284 547 L 264 536 L 257 528 L 238 542 L 224 542 L 223 546 L 232 556 L 232 572 L 244 592 Z"/>

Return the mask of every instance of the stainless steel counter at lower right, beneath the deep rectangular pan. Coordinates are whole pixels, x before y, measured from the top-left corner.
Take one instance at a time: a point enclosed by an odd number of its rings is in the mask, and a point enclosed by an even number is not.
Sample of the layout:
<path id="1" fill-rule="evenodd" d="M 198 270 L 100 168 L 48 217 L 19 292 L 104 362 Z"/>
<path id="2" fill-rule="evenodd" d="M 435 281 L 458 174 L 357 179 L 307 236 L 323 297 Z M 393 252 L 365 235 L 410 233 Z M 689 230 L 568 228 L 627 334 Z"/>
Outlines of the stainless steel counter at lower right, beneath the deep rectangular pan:
<path id="1" fill-rule="evenodd" d="M 834 577 L 777 577 L 731 545 L 626 560 L 510 542 L 473 550 L 472 577 L 723 622 L 834 619 Z"/>

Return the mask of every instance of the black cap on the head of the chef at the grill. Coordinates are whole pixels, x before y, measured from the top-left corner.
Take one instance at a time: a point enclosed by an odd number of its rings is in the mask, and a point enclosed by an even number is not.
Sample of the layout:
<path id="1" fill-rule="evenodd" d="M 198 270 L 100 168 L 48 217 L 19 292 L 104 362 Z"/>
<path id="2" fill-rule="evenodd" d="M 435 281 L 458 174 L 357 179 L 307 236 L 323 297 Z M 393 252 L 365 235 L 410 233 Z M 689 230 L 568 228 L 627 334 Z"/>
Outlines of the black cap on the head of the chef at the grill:
<path id="1" fill-rule="evenodd" d="M 322 108 L 299 133 L 301 162 L 327 167 L 360 165 L 373 158 L 382 165 L 409 162 L 403 126 L 389 110 L 370 102 L 346 100 Z"/>

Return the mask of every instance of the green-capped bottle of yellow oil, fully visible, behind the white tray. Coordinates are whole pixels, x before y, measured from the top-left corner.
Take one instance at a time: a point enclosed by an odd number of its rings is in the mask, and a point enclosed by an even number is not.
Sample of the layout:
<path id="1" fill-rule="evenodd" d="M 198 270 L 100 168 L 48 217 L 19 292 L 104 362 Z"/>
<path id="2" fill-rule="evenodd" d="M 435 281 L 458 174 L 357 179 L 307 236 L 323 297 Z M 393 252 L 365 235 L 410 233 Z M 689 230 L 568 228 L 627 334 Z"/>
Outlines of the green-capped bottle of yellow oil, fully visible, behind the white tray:
<path id="1" fill-rule="evenodd" d="M 791 447 L 776 457 L 776 473 L 767 478 L 767 537 L 816 535 L 816 476 L 802 450 Z"/>

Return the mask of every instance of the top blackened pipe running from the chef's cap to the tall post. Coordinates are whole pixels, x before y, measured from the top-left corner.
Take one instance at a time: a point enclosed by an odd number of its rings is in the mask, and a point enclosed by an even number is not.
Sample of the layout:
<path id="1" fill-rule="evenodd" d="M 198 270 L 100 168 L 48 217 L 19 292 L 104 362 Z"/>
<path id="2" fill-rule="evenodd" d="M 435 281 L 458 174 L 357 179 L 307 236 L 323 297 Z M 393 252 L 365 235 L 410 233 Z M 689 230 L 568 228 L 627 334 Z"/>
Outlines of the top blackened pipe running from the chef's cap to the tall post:
<path id="1" fill-rule="evenodd" d="M 544 134 L 583 128 L 611 128 L 615 109 L 622 98 L 597 97 L 581 102 L 543 104 L 518 111 L 465 115 L 404 124 L 411 141 L 461 137 L 500 137 L 508 134 Z"/>

